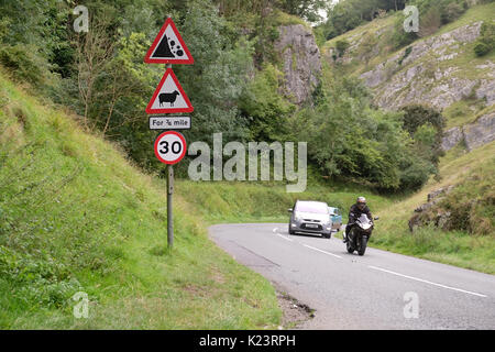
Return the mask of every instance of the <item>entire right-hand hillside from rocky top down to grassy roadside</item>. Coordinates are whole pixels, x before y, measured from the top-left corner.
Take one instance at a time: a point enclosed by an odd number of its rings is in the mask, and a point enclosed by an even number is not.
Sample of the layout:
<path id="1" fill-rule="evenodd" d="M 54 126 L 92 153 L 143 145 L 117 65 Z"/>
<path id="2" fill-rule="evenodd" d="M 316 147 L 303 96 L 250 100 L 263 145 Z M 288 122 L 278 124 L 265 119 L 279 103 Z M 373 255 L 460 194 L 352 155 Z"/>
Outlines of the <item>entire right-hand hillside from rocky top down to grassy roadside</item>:
<path id="1" fill-rule="evenodd" d="M 457 21 L 407 47 L 389 38 L 398 14 L 374 20 L 321 47 L 330 69 L 359 77 L 375 103 L 396 110 L 410 103 L 442 110 L 447 129 L 439 175 L 419 191 L 380 209 L 371 245 L 419 257 L 495 273 L 495 53 L 477 57 L 482 23 L 493 21 L 495 3 L 475 6 Z M 338 43 L 349 43 L 339 57 Z M 427 227 L 411 233 L 408 221 L 429 194 L 453 187 L 430 213 L 452 213 L 458 227 Z"/>

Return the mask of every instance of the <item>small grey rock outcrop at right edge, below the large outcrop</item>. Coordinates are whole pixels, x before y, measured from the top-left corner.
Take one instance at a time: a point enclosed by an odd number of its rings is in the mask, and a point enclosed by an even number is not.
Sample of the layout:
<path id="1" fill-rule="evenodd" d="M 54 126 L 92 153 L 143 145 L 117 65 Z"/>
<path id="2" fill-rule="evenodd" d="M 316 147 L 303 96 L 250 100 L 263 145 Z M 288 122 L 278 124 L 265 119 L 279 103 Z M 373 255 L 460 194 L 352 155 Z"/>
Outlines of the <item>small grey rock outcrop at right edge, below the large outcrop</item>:
<path id="1" fill-rule="evenodd" d="M 474 123 L 448 130 L 444 132 L 441 146 L 447 152 L 464 142 L 468 151 L 472 151 L 493 141 L 495 141 L 495 112 L 481 117 Z"/>

